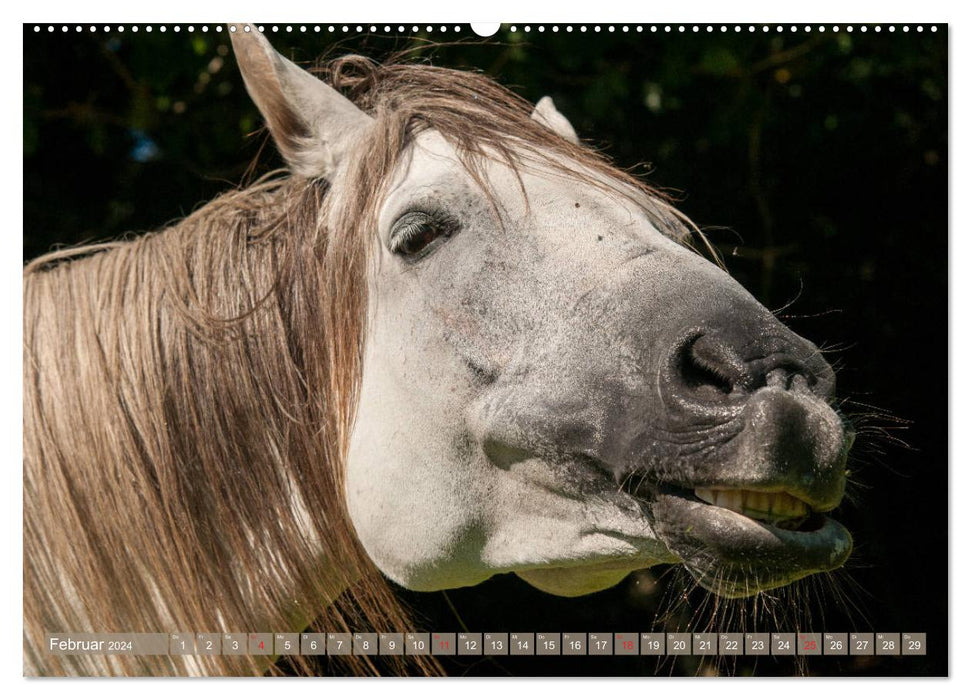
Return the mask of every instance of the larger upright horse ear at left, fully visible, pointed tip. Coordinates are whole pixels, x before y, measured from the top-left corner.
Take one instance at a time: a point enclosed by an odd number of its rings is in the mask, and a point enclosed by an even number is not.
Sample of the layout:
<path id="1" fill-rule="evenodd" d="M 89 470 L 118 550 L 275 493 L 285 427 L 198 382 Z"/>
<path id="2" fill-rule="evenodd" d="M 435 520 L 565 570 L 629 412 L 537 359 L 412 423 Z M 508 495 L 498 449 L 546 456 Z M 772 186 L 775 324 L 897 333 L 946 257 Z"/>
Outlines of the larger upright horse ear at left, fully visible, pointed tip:
<path id="1" fill-rule="evenodd" d="M 331 178 L 363 129 L 373 121 L 329 85 L 281 56 L 256 25 L 230 31 L 250 97 L 290 169 Z"/>

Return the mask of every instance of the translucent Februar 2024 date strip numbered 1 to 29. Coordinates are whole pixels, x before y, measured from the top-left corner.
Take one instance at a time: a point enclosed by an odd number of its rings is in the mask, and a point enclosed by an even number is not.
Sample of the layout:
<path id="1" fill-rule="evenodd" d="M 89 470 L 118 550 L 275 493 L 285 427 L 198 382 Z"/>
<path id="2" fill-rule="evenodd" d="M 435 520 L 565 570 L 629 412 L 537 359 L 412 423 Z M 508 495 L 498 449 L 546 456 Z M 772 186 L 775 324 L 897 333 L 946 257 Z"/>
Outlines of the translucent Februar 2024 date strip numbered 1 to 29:
<path id="1" fill-rule="evenodd" d="M 899 632 L 49 634 L 51 654 L 239 656 L 925 656 Z"/>

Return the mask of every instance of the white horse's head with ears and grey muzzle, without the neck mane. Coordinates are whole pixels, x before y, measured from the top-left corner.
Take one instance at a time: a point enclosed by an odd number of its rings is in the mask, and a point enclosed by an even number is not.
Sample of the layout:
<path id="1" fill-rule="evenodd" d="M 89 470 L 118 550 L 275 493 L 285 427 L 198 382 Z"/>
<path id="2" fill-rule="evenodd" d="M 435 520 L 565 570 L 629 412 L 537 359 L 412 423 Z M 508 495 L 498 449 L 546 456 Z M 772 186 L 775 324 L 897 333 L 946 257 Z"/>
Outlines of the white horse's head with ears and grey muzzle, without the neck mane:
<path id="1" fill-rule="evenodd" d="M 366 113 L 255 30 L 233 40 L 294 172 L 344 198 L 381 175 L 346 497 L 386 575 L 580 595 L 682 562 L 739 596 L 845 561 L 831 368 L 549 98 L 532 122 L 505 92 L 450 118 L 462 84 L 423 96 L 434 114 Z"/>

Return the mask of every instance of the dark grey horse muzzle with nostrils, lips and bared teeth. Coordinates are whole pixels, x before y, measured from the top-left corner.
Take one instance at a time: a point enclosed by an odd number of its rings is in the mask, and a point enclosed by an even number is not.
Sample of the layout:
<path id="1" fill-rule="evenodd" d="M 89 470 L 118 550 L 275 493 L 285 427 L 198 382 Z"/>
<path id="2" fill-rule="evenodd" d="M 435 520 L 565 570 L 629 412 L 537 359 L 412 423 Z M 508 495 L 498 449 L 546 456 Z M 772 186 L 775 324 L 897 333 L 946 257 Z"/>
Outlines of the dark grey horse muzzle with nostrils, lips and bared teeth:
<path id="1" fill-rule="evenodd" d="M 734 427 L 707 458 L 658 470 L 642 494 L 668 548 L 726 597 L 835 569 L 852 549 L 825 515 L 842 501 L 853 441 L 830 406 L 832 369 L 788 331 L 748 338 L 735 349 L 692 333 L 676 346 L 661 370 L 669 416 Z"/>

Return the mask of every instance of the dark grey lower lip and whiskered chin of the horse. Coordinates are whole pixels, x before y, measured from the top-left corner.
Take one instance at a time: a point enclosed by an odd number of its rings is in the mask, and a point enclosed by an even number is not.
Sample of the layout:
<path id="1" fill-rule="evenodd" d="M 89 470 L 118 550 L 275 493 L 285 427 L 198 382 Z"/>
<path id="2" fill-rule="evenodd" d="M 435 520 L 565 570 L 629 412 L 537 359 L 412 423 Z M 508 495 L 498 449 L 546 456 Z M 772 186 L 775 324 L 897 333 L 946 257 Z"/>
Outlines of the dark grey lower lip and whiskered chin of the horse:
<path id="1" fill-rule="evenodd" d="M 821 513 L 785 529 L 683 492 L 658 494 L 652 510 L 668 548 L 700 585 L 725 598 L 837 569 L 853 548 L 847 529 Z"/>

